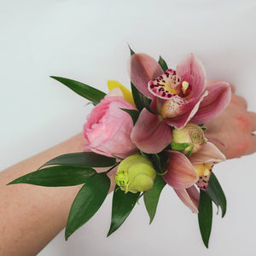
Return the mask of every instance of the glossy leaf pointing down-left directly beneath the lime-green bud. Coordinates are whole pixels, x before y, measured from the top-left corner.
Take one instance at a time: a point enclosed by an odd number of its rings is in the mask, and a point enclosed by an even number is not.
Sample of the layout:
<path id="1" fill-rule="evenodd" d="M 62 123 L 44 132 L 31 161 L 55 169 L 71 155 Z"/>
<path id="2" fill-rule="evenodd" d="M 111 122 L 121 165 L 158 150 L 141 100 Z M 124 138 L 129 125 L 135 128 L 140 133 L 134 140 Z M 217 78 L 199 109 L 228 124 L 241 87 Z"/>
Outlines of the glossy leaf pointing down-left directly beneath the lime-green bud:
<path id="1" fill-rule="evenodd" d="M 125 219 L 129 216 L 131 210 L 135 206 L 139 195 L 140 193 L 133 194 L 131 192 L 125 194 L 125 192 L 119 189 L 119 186 L 116 185 L 113 192 L 112 217 L 108 236 L 125 222 Z"/>

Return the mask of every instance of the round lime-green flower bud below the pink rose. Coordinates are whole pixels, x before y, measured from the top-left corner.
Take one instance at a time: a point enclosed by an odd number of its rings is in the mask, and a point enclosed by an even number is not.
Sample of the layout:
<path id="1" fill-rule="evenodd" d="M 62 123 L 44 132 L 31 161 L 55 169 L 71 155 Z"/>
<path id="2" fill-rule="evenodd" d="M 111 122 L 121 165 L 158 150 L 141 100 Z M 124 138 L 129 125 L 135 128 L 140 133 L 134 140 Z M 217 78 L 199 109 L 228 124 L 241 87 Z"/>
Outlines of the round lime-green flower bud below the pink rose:
<path id="1" fill-rule="evenodd" d="M 125 193 L 152 189 L 156 172 L 152 162 L 140 154 L 131 155 L 119 164 L 115 182 Z"/>

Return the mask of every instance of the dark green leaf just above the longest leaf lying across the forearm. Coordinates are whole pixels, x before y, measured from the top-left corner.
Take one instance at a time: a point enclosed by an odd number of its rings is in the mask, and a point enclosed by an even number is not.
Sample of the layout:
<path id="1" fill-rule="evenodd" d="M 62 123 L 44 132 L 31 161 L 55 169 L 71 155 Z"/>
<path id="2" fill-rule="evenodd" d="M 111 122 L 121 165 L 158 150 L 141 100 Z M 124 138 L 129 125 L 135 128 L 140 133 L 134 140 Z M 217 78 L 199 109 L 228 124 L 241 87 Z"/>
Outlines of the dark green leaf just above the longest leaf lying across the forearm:
<path id="1" fill-rule="evenodd" d="M 112 157 L 93 152 L 79 152 L 59 155 L 46 162 L 44 166 L 109 167 L 115 163 L 116 161 Z"/>

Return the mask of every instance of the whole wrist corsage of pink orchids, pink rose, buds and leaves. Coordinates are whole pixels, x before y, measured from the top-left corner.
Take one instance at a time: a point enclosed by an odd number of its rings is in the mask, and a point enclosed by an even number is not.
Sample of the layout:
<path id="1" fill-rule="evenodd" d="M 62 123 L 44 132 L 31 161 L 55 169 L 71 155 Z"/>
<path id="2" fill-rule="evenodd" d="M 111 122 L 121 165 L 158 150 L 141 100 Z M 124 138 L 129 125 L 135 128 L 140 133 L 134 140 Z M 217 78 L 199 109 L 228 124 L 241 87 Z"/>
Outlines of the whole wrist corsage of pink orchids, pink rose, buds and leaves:
<path id="1" fill-rule="evenodd" d="M 106 95 L 87 84 L 52 77 L 95 105 L 84 124 L 84 152 L 49 160 L 36 172 L 14 183 L 41 186 L 84 184 L 73 201 L 67 220 L 66 240 L 102 206 L 113 190 L 112 219 L 108 236 L 129 216 L 143 197 L 150 223 L 166 184 L 198 214 L 206 247 L 212 228 L 212 202 L 226 212 L 226 199 L 212 172 L 225 157 L 207 140 L 204 125 L 230 102 L 230 84 L 207 86 L 201 61 L 193 54 L 177 68 L 168 69 L 131 50 L 128 64 L 131 91 L 108 81 Z M 105 172 L 95 168 L 105 167 Z"/>

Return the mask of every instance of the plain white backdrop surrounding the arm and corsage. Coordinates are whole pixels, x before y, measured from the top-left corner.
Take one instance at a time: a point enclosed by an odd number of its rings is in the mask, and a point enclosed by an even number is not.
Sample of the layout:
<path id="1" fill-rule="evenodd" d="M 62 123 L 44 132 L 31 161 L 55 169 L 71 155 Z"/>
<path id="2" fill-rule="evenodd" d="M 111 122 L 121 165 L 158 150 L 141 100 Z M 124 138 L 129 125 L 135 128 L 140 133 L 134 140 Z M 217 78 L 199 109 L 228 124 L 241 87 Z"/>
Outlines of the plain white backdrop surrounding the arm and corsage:
<path id="1" fill-rule="evenodd" d="M 169 67 L 190 52 L 207 79 L 236 84 L 256 110 L 255 1 L 14 1 L 0 2 L 0 169 L 61 143 L 82 130 L 91 107 L 50 75 L 107 91 L 107 80 L 129 86 L 127 44 Z M 255 155 L 215 166 L 227 196 L 222 219 L 214 208 L 207 250 L 192 214 L 164 189 L 153 224 L 143 201 L 106 238 L 108 195 L 101 210 L 68 241 L 61 232 L 46 255 L 255 255 Z"/>

